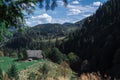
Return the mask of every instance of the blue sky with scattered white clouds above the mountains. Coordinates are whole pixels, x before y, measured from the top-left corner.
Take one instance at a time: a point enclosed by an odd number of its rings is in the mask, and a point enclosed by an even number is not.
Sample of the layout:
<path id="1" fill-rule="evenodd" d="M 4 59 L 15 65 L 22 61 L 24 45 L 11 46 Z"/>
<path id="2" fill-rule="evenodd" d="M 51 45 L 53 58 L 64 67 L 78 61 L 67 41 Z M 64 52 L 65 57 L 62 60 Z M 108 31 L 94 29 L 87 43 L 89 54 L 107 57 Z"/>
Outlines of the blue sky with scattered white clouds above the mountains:
<path id="1" fill-rule="evenodd" d="M 45 8 L 35 6 L 34 14 L 29 15 L 25 21 L 30 27 L 46 23 L 75 23 L 95 13 L 105 2 L 106 0 L 68 0 L 65 7 L 62 0 L 57 0 L 55 10 L 46 11 Z"/>

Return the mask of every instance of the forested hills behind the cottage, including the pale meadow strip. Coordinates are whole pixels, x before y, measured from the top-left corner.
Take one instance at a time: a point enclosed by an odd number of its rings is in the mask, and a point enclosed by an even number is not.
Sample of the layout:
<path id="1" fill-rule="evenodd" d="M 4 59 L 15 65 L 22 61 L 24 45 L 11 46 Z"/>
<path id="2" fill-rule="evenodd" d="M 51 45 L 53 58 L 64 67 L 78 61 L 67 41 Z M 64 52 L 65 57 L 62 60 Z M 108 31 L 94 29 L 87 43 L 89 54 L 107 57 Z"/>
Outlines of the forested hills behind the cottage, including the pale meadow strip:
<path id="1" fill-rule="evenodd" d="M 83 24 L 80 22 L 79 24 Z M 27 49 L 47 49 L 58 46 L 60 41 L 69 33 L 81 28 L 78 24 L 39 24 L 29 27 L 25 31 L 15 32 L 13 37 L 6 42 L 4 49 L 6 52 L 12 50 Z M 59 42 L 58 42 L 59 41 Z"/>

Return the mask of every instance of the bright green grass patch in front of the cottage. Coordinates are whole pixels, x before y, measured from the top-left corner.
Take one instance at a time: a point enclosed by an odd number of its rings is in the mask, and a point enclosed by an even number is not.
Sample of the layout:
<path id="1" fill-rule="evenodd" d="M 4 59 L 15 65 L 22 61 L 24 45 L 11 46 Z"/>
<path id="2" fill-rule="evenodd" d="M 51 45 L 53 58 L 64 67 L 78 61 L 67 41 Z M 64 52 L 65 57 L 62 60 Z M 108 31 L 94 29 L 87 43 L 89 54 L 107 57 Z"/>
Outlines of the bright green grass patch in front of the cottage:
<path id="1" fill-rule="evenodd" d="M 0 57 L 0 68 L 2 68 L 2 70 L 4 70 L 4 71 L 8 71 L 8 69 L 11 67 L 11 65 L 15 63 L 18 71 L 20 71 L 20 70 L 26 69 L 27 67 L 29 67 L 35 63 L 43 61 L 43 60 L 34 60 L 31 62 L 22 62 L 22 61 L 17 62 L 17 61 L 15 61 L 16 59 L 17 58 Z"/>

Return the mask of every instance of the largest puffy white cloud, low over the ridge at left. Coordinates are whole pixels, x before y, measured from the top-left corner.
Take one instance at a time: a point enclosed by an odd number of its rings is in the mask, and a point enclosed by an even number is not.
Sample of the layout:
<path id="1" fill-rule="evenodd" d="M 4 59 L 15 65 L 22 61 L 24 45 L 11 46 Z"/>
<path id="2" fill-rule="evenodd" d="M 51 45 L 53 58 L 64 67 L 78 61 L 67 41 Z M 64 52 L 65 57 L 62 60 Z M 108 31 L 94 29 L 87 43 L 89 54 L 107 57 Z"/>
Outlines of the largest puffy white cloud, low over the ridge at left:
<path id="1" fill-rule="evenodd" d="M 26 20 L 26 23 L 29 26 L 35 26 L 37 24 L 51 23 L 52 17 L 47 13 L 38 16 L 32 16 L 29 20 Z"/>

